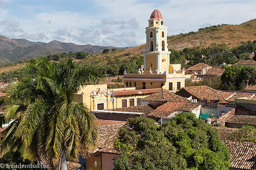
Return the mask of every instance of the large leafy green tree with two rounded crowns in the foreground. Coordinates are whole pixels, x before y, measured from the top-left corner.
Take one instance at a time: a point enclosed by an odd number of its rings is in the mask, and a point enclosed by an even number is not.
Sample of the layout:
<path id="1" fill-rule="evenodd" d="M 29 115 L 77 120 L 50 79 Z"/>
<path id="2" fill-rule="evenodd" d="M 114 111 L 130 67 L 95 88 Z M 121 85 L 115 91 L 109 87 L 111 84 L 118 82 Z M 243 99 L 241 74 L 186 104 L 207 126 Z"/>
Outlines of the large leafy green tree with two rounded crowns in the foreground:
<path id="1" fill-rule="evenodd" d="M 216 129 L 193 113 L 180 113 L 158 126 L 154 120 L 129 119 L 115 148 L 116 170 L 228 170 L 230 154 Z"/>

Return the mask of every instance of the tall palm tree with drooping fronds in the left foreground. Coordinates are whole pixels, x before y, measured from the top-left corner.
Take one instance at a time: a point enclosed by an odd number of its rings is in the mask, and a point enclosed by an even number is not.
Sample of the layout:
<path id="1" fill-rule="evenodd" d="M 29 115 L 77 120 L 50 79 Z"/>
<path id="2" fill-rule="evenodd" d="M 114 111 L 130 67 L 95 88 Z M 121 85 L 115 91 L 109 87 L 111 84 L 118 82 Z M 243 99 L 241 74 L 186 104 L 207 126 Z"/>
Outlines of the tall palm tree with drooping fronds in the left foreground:
<path id="1" fill-rule="evenodd" d="M 44 157 L 56 167 L 67 170 L 66 159 L 78 160 L 97 141 L 93 114 L 74 94 L 82 86 L 96 84 L 100 73 L 79 68 L 68 58 L 52 63 L 47 58 L 28 62 L 33 79 L 22 79 L 7 88 L 5 119 L 15 119 L 6 129 L 2 152 L 19 150 L 24 157 Z"/>

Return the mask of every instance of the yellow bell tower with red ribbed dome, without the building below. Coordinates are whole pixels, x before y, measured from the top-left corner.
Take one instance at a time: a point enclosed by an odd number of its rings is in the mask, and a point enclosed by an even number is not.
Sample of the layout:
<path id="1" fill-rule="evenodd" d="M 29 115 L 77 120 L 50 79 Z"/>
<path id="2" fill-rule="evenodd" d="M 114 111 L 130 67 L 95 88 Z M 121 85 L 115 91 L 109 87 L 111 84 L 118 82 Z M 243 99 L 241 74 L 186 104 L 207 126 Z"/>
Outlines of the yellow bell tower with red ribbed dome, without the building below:
<path id="1" fill-rule="evenodd" d="M 170 51 L 167 48 L 167 27 L 163 17 L 155 9 L 146 27 L 147 46 L 144 53 L 144 74 L 151 70 L 153 74 L 169 73 Z M 165 72 L 166 71 L 166 72 Z"/>

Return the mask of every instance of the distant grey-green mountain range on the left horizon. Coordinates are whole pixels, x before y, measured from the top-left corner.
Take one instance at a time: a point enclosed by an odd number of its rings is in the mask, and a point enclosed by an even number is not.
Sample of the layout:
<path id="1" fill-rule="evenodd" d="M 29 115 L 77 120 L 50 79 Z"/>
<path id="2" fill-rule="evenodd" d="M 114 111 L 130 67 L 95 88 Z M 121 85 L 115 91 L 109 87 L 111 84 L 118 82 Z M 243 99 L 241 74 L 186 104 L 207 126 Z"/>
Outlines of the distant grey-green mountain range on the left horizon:
<path id="1" fill-rule="evenodd" d="M 11 62 L 19 62 L 29 58 L 46 56 L 50 54 L 58 54 L 63 52 L 84 51 L 87 53 L 100 53 L 103 49 L 113 49 L 113 46 L 93 46 L 93 45 L 77 45 L 73 43 L 64 43 L 59 41 L 32 42 L 25 39 L 10 39 L 0 35 L 0 64 L 8 64 Z M 122 49 L 122 48 L 117 48 Z"/>

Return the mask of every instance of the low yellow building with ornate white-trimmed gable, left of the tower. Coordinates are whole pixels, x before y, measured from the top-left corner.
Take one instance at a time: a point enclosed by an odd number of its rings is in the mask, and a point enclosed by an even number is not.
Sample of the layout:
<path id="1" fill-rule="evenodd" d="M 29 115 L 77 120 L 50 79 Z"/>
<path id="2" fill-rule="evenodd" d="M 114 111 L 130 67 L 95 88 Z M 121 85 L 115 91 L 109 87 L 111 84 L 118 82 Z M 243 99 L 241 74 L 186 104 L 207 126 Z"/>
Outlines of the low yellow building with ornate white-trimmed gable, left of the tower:
<path id="1" fill-rule="evenodd" d="M 74 95 L 74 101 L 82 102 L 90 110 L 138 106 L 139 99 L 160 90 L 160 88 L 135 90 L 135 87 L 109 90 L 107 84 L 87 85 Z"/>

